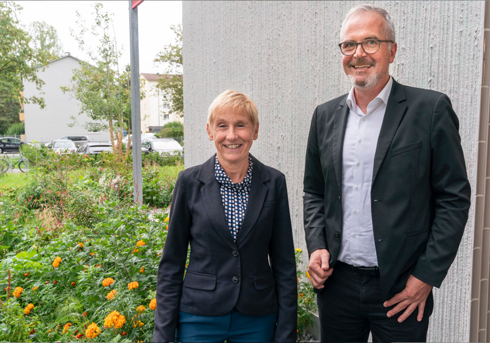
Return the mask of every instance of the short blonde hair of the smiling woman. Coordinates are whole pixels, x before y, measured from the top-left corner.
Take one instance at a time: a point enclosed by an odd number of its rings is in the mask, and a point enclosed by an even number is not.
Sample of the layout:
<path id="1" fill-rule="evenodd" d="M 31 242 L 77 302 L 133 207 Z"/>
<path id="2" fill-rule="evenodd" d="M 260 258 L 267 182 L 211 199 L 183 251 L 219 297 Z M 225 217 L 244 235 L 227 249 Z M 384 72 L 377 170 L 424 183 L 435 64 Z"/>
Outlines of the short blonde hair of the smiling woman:
<path id="1" fill-rule="evenodd" d="M 230 109 L 237 112 L 246 113 L 249 115 L 254 128 L 259 122 L 259 111 L 257 106 L 246 94 L 236 90 L 225 90 L 219 94 L 212 102 L 208 109 L 208 124 L 212 126 L 217 113 L 223 109 Z"/>

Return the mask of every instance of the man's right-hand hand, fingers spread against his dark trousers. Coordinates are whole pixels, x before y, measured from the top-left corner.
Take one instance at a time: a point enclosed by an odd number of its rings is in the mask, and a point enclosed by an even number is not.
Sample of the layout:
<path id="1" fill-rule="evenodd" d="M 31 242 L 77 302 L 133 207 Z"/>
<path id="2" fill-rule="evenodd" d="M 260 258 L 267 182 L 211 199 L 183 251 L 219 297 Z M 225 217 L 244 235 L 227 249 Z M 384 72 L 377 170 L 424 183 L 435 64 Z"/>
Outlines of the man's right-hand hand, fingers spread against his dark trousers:
<path id="1" fill-rule="evenodd" d="M 391 317 L 404 308 L 407 308 L 398 318 L 398 322 L 401 323 L 406 320 L 406 318 L 408 318 L 408 316 L 418 307 L 419 314 L 417 315 L 417 320 L 419 322 L 422 321 L 422 318 L 424 317 L 425 301 L 427 300 L 431 290 L 431 285 L 417 279 L 413 275 L 410 275 L 408 277 L 407 284 L 405 285 L 405 289 L 383 303 L 384 307 L 398 303 L 398 305 L 389 310 L 386 315 Z"/>

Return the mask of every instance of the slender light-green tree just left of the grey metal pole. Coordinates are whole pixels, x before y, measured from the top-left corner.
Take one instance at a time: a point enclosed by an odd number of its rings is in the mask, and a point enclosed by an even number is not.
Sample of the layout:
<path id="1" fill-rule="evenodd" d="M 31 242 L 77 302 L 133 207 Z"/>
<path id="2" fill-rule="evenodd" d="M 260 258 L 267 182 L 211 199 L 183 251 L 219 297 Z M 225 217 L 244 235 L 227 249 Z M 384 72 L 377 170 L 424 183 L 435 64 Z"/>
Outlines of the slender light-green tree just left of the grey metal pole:
<path id="1" fill-rule="evenodd" d="M 87 53 L 93 65 L 81 62 L 80 69 L 74 70 L 71 85 L 62 87 L 62 90 L 73 92 L 75 98 L 80 101 L 80 113 L 86 113 L 109 129 L 113 150 L 122 157 L 124 155 L 123 132 L 125 129 L 128 131 L 130 129 L 128 120 L 128 113 L 131 113 L 130 70 L 129 66 L 122 71 L 119 70 L 120 53 L 117 50 L 115 34 L 111 34 L 112 15 L 104 12 L 101 3 L 94 5 L 94 11 L 95 22 L 90 30 L 77 12 L 77 27 L 80 31 L 71 31 L 80 49 Z M 99 39 L 96 53 L 85 46 L 84 35 L 87 32 Z M 129 149 L 126 151 L 126 155 L 128 154 Z"/>

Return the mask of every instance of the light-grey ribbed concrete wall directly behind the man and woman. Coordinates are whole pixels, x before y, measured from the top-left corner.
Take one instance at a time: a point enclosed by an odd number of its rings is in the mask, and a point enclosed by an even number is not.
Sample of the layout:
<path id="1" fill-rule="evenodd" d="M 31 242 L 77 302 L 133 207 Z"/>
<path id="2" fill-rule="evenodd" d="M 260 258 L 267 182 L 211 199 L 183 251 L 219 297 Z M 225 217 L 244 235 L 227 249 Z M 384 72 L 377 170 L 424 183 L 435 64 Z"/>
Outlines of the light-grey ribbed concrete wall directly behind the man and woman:
<path id="1" fill-rule="evenodd" d="M 337 47 L 342 19 L 361 2 L 183 2 L 185 165 L 214 153 L 207 108 L 225 89 L 251 95 L 259 109 L 252 154 L 287 178 L 296 246 L 303 234 L 303 169 L 314 108 L 347 93 Z M 394 19 L 402 84 L 447 93 L 475 187 L 482 73 L 483 2 L 374 2 Z M 450 156 L 448 156 L 450 158 Z M 430 341 L 469 339 L 473 209 L 458 257 L 435 290 Z M 305 256 L 306 259 L 306 256 Z"/>

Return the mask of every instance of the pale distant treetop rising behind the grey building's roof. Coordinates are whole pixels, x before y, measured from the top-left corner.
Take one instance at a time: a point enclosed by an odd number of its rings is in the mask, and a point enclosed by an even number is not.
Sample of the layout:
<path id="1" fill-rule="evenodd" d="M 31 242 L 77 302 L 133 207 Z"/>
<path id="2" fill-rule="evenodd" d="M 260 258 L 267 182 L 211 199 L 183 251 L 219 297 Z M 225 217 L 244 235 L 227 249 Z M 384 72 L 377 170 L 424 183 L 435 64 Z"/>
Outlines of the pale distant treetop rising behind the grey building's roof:
<path id="1" fill-rule="evenodd" d="M 48 61 L 56 60 L 63 54 L 58 32 L 45 21 L 33 21 L 29 26 L 31 46 Z"/>

